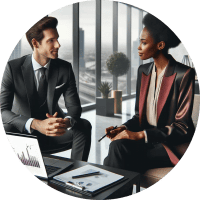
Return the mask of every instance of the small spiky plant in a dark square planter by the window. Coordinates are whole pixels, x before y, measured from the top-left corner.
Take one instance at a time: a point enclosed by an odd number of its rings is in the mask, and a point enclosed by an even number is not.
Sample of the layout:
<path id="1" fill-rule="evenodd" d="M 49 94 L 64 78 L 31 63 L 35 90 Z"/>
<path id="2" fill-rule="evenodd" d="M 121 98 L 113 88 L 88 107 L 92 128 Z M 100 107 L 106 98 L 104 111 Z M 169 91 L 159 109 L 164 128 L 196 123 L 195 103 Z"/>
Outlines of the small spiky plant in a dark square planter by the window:
<path id="1" fill-rule="evenodd" d="M 111 92 L 112 84 L 109 82 L 102 82 L 98 90 L 102 93 L 103 97 L 96 98 L 96 114 L 103 116 L 114 115 L 114 98 L 108 98 Z"/>

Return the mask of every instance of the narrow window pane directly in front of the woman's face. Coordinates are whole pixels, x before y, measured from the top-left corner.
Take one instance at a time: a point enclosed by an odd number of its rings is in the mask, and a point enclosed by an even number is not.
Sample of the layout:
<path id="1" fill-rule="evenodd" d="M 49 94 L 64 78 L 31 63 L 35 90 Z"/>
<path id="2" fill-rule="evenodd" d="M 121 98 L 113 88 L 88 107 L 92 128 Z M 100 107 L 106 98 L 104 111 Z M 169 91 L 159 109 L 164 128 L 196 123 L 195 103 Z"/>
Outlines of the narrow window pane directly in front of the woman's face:
<path id="1" fill-rule="evenodd" d="M 131 92 L 136 90 L 136 79 L 137 79 L 137 69 L 139 67 L 139 55 L 138 55 L 138 46 L 139 46 L 139 10 L 137 8 L 132 8 L 132 47 L 131 47 Z"/>

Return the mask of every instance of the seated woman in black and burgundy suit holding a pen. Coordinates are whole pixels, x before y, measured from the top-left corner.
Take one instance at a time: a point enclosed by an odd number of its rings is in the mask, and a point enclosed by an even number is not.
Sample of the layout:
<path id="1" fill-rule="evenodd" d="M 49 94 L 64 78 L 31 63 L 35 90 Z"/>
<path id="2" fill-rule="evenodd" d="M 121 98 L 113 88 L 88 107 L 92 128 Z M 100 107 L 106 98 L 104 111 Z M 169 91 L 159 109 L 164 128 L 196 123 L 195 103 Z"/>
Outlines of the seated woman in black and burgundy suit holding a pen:
<path id="1" fill-rule="evenodd" d="M 106 129 L 111 139 L 104 165 L 144 172 L 179 162 L 174 146 L 191 141 L 194 69 L 168 54 L 181 42 L 157 17 L 143 19 L 138 53 L 154 62 L 138 68 L 135 115 L 117 129 Z"/>

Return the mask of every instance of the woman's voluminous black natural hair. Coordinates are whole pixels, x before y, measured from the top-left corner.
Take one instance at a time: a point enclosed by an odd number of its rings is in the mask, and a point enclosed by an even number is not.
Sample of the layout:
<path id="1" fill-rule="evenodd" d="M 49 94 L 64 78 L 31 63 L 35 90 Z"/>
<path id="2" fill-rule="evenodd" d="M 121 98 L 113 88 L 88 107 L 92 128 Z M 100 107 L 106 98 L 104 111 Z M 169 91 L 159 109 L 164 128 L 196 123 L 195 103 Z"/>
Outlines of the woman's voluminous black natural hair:
<path id="1" fill-rule="evenodd" d="M 148 13 L 144 16 L 142 23 L 145 25 L 150 35 L 153 37 L 154 42 L 165 42 L 165 50 L 169 48 L 177 47 L 181 40 L 174 31 L 169 28 L 163 21 L 156 16 Z"/>

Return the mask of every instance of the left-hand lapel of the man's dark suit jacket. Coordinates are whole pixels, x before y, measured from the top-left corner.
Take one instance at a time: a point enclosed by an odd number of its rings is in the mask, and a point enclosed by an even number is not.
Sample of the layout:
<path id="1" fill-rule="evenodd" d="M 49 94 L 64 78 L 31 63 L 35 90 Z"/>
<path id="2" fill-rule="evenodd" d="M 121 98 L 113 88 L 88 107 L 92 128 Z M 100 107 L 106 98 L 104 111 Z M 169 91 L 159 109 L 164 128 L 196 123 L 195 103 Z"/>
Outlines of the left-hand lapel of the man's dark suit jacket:
<path id="1" fill-rule="evenodd" d="M 29 107 L 30 109 L 27 111 L 27 116 L 31 117 L 31 111 L 35 108 L 35 102 L 37 97 L 37 90 L 35 86 L 35 74 L 33 71 L 32 61 L 31 61 L 31 55 L 28 55 L 24 64 L 21 67 L 22 74 L 24 78 L 25 88 L 27 97 L 29 100 Z"/>

